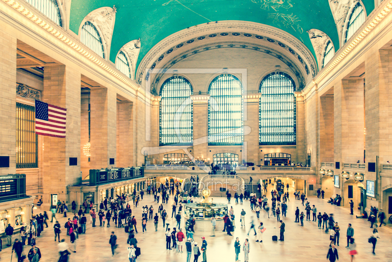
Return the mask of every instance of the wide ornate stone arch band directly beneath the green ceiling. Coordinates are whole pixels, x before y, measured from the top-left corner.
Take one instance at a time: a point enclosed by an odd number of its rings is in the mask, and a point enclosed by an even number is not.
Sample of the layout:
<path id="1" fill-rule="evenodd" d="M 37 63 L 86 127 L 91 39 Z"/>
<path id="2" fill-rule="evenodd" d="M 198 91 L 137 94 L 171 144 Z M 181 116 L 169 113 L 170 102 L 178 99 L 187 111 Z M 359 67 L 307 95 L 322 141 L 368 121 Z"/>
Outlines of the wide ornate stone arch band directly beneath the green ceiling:
<path id="1" fill-rule="evenodd" d="M 203 38 L 198 39 L 198 36 L 201 35 L 211 35 L 216 34 L 216 39 L 225 37 L 221 36 L 221 32 L 230 31 L 230 32 L 245 32 L 251 34 L 254 38 L 254 34 L 260 34 L 264 38 L 275 38 L 275 41 L 283 42 L 285 45 L 290 45 L 289 47 L 294 51 L 294 53 L 298 53 L 299 56 L 304 57 L 304 63 L 309 66 L 310 72 L 315 75 L 316 74 L 316 60 L 312 56 L 311 52 L 303 43 L 301 43 L 298 39 L 291 36 L 289 33 L 284 32 L 275 27 L 270 27 L 268 25 L 263 25 L 260 23 L 253 22 L 245 22 L 245 21 L 218 21 L 218 23 L 207 25 L 202 24 L 191 29 L 184 29 L 179 32 L 176 32 L 167 38 L 160 41 L 156 44 L 151 50 L 143 57 L 142 62 L 138 66 L 136 77 L 138 79 L 138 83 L 142 84 L 145 79 L 143 79 L 143 75 L 146 74 L 146 68 L 150 68 L 153 63 L 159 62 L 159 57 L 165 55 L 170 49 L 175 50 L 176 46 L 186 45 L 189 41 L 197 42 L 202 41 Z M 243 36 L 244 33 L 241 34 Z M 239 36 L 239 35 L 238 35 Z M 193 39 L 195 38 L 195 39 Z M 247 37 L 245 37 L 247 38 Z M 278 38 L 278 39 L 276 39 Z M 209 39 L 211 40 L 211 39 Z M 221 41 L 221 40 L 220 40 Z M 173 46 L 174 45 L 174 46 Z M 171 50 L 170 52 L 172 52 Z M 169 53 L 170 53 L 169 52 Z M 167 53 L 167 54 L 169 54 Z"/>

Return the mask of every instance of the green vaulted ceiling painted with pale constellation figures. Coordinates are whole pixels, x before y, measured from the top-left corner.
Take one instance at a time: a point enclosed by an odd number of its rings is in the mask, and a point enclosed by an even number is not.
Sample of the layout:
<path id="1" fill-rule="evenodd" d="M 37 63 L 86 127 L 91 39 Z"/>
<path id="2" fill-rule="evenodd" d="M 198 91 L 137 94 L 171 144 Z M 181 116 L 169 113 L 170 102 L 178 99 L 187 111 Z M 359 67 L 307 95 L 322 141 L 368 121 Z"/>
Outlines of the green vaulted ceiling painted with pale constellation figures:
<path id="1" fill-rule="evenodd" d="M 221 20 L 241 20 L 277 27 L 292 34 L 314 50 L 306 32 L 325 32 L 336 49 L 339 37 L 328 1 L 334 0 L 72 0 L 70 29 L 78 34 L 80 23 L 100 7 L 117 8 L 110 59 L 114 63 L 118 50 L 140 38 L 139 65 L 147 52 L 165 37 L 194 25 Z M 362 0 L 367 14 L 374 0 Z"/>

